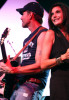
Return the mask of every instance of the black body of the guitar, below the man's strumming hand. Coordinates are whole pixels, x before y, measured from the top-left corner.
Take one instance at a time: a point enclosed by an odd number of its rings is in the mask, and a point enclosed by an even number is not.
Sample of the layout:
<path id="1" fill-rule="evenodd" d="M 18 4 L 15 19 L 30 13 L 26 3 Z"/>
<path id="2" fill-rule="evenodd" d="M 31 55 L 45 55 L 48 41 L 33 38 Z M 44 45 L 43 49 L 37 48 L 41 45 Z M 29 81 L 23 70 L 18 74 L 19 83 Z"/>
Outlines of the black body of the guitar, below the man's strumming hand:
<path id="1" fill-rule="evenodd" d="M 15 83 L 16 83 L 16 75 L 6 74 L 2 81 L 6 81 L 4 88 L 4 97 L 9 99 L 12 95 Z"/>

